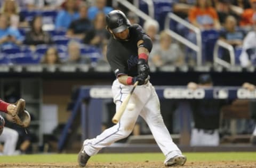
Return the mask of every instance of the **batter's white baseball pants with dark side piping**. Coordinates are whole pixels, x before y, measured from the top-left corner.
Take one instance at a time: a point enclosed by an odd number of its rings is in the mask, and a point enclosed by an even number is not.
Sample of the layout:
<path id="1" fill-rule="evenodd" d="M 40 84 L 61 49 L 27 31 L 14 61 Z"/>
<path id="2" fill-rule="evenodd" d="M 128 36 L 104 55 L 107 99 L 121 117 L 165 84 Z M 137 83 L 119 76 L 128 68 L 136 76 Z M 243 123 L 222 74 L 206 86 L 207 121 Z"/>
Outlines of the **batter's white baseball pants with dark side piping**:
<path id="1" fill-rule="evenodd" d="M 132 86 L 125 86 L 117 79 L 113 82 L 112 92 L 116 109 L 119 108 L 125 97 L 130 93 Z M 84 141 L 84 150 L 90 156 L 99 152 L 103 147 L 130 135 L 139 115 L 147 122 L 157 145 L 167 159 L 181 155 L 180 149 L 174 144 L 169 131 L 164 125 L 160 112 L 160 103 L 155 88 L 148 82 L 146 85 L 135 88 L 129 103 L 134 103 L 132 111 L 125 110 L 120 121 L 113 127 L 106 129 L 99 136 Z"/>

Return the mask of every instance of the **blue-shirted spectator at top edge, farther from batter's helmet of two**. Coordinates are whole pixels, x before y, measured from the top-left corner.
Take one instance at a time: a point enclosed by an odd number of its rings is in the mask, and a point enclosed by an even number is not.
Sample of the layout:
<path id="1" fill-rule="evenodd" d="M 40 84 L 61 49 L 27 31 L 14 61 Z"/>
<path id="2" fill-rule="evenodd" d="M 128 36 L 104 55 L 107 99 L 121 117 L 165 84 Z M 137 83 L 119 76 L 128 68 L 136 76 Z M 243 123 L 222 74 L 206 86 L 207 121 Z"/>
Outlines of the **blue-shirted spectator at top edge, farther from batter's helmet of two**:
<path id="1" fill-rule="evenodd" d="M 77 1 L 66 0 L 63 4 L 63 10 L 59 11 L 55 20 L 55 29 L 67 30 L 72 21 L 79 18 L 77 12 Z"/>

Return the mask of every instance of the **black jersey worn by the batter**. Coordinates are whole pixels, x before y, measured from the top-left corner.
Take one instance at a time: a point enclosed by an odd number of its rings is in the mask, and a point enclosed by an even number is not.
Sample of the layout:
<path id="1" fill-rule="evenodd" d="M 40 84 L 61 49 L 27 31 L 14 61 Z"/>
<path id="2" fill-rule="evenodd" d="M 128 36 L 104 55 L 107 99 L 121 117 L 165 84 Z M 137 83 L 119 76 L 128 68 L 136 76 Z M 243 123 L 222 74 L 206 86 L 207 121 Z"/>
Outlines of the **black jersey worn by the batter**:
<path id="1" fill-rule="evenodd" d="M 118 40 L 110 37 L 107 46 L 107 60 L 114 71 L 116 77 L 121 74 L 127 74 L 131 77 L 138 75 L 138 46 L 139 40 L 143 36 L 148 36 L 138 24 L 129 27 L 129 38 L 127 40 Z"/>

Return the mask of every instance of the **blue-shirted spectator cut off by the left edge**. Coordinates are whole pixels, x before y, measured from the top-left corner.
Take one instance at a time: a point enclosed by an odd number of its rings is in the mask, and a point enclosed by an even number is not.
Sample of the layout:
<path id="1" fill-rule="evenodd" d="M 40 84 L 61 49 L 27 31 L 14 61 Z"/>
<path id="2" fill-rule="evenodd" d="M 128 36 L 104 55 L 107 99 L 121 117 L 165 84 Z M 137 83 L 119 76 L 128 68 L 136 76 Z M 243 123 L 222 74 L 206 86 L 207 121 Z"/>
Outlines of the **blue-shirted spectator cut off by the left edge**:
<path id="1" fill-rule="evenodd" d="M 6 15 L 0 15 L 0 45 L 20 45 L 22 43 L 20 32 L 16 28 L 9 27 Z"/>

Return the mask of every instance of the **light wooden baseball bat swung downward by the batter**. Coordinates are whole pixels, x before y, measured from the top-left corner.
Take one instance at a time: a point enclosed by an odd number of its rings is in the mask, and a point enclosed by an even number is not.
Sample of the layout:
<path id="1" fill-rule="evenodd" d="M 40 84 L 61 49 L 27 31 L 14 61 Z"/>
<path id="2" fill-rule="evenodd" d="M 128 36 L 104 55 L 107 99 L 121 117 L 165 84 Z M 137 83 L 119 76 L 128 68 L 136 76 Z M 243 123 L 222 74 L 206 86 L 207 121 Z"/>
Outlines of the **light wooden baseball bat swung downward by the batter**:
<path id="1" fill-rule="evenodd" d="M 133 93 L 133 91 L 134 91 L 134 89 L 136 88 L 137 85 L 138 85 L 138 81 L 133 84 L 132 90 L 130 91 L 129 95 L 127 95 L 127 97 L 125 98 L 124 102 L 121 104 L 121 106 L 119 107 L 118 111 L 113 116 L 113 118 L 112 118 L 112 122 L 113 123 L 116 124 L 121 119 L 121 116 L 123 115 L 123 113 L 125 111 L 125 108 L 127 107 L 127 104 L 129 103 L 129 100 L 130 100 L 130 98 L 132 96 L 132 93 Z"/>

